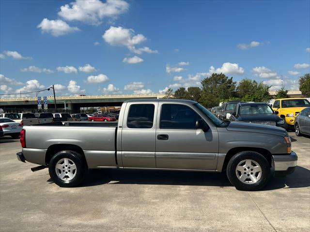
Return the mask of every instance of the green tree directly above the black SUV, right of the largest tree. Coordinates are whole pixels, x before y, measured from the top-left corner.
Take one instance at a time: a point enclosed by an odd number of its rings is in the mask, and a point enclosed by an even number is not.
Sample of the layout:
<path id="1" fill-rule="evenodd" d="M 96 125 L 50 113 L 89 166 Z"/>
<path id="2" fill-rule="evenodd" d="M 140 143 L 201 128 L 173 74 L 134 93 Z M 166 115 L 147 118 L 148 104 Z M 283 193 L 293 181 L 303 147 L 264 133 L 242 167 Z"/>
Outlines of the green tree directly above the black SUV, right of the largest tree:
<path id="1" fill-rule="evenodd" d="M 269 88 L 263 82 L 248 78 L 242 79 L 237 87 L 238 97 L 247 102 L 267 102 L 270 99 Z"/>

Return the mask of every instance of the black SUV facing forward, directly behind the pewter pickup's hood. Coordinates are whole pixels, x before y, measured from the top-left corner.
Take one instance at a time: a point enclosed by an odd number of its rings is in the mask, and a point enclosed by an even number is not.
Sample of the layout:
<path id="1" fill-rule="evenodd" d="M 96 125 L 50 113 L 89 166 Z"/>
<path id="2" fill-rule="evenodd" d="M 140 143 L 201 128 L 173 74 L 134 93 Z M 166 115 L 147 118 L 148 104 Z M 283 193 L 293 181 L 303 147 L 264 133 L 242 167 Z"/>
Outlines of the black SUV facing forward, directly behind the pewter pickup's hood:
<path id="1" fill-rule="evenodd" d="M 284 119 L 280 118 L 265 102 L 239 102 L 230 119 L 231 121 L 284 127 Z"/>

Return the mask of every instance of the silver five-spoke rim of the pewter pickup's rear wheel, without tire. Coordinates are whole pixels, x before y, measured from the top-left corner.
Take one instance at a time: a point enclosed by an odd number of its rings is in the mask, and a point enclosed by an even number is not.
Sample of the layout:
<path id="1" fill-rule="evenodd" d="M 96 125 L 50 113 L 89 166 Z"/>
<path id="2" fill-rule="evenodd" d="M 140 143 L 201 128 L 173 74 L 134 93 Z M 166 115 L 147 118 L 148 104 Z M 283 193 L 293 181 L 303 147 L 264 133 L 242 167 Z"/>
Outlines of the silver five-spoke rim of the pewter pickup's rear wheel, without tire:
<path id="1" fill-rule="evenodd" d="M 77 166 L 72 160 L 63 158 L 56 163 L 55 171 L 58 178 L 63 181 L 70 181 L 77 174 Z"/>

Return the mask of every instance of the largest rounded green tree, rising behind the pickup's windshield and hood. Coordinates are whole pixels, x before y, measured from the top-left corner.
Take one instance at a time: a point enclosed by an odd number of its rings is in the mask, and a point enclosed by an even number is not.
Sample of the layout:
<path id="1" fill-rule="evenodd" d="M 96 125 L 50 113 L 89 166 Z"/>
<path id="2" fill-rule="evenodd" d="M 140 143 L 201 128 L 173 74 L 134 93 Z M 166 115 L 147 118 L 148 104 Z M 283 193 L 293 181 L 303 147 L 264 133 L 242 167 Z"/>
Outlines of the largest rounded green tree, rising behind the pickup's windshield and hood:
<path id="1" fill-rule="evenodd" d="M 200 102 L 207 108 L 217 106 L 224 99 L 235 97 L 236 82 L 223 73 L 213 73 L 202 80 Z"/>

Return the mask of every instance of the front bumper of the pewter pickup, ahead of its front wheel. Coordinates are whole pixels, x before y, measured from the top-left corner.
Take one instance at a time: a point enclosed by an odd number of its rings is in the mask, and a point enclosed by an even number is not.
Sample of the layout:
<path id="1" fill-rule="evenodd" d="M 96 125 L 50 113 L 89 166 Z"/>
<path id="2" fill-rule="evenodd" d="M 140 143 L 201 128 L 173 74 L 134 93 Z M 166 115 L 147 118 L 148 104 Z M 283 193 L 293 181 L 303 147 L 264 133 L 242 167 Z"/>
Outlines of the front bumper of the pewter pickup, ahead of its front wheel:
<path id="1" fill-rule="evenodd" d="M 298 157 L 294 151 L 289 155 L 273 155 L 272 158 L 277 177 L 292 174 L 297 166 Z"/>

